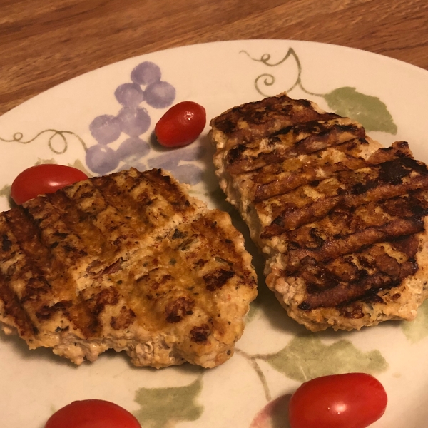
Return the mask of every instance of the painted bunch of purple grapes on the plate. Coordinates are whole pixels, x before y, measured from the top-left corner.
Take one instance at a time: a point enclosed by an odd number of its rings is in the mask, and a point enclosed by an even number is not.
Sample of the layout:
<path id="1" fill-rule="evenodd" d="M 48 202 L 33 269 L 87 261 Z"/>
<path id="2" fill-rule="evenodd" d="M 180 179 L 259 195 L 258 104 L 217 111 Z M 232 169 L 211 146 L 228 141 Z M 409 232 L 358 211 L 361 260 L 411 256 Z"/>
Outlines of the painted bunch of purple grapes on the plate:
<path id="1" fill-rule="evenodd" d="M 150 145 L 141 136 L 151 126 L 151 118 L 142 106 L 166 108 L 175 100 L 175 88 L 162 81 L 161 68 L 156 63 L 144 61 L 131 71 L 131 82 L 122 83 L 116 88 L 114 96 L 122 108 L 116 116 L 105 114 L 91 122 L 89 131 L 98 144 L 88 148 L 86 164 L 97 174 L 111 173 L 113 170 L 147 168 L 143 158 L 150 153 Z M 119 138 L 121 138 L 120 141 Z M 117 150 L 106 146 L 118 141 Z M 151 158 L 148 167 L 177 170 L 180 175 L 188 175 L 187 183 L 196 183 L 202 177 L 202 170 L 194 165 L 179 165 L 180 161 L 193 161 L 203 156 L 200 147 L 176 150 Z"/>

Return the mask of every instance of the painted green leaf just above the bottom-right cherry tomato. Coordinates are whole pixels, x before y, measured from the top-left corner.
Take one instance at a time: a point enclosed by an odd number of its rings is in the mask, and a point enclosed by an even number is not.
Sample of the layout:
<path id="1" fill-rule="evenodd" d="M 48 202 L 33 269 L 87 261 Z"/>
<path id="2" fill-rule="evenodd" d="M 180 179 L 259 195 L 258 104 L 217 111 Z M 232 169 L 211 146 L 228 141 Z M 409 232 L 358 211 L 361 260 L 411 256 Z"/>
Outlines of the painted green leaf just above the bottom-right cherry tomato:
<path id="1" fill-rule="evenodd" d="M 375 374 L 388 368 L 378 350 L 362 352 L 349 340 L 324 345 L 316 335 L 296 336 L 280 352 L 268 355 L 264 360 L 278 372 L 300 382 L 327 374 Z"/>

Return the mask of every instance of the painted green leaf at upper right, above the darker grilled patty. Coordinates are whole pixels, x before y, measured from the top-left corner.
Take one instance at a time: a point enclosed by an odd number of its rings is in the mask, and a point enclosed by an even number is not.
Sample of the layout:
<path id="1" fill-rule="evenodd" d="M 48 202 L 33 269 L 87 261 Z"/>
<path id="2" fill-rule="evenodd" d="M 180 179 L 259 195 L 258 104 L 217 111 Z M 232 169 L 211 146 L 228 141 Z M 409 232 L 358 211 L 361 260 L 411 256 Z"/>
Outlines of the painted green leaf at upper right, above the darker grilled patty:
<path id="1" fill-rule="evenodd" d="M 366 131 L 384 131 L 397 134 L 397 125 L 385 103 L 376 96 L 357 92 L 345 86 L 323 95 L 328 106 L 340 116 L 360 122 Z"/>

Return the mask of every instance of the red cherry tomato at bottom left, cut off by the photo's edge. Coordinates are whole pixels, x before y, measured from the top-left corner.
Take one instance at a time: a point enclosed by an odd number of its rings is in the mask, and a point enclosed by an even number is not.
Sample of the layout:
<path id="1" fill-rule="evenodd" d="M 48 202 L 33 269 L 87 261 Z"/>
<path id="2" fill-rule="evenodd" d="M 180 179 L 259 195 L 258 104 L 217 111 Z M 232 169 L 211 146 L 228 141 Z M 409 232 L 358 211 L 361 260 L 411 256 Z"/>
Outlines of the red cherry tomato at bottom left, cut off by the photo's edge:
<path id="1" fill-rule="evenodd" d="M 128 410 L 102 399 L 72 402 L 55 412 L 45 428 L 141 428 Z"/>

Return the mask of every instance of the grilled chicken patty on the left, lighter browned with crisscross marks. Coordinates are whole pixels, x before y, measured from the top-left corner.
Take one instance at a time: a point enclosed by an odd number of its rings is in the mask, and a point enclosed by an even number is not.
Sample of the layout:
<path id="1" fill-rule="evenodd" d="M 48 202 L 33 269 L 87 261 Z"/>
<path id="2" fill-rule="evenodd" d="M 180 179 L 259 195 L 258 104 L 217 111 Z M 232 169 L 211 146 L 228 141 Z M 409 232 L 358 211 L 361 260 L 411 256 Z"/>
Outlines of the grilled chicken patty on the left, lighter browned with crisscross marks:
<path id="1" fill-rule="evenodd" d="M 0 215 L 0 321 L 81 364 L 215 367 L 233 354 L 255 272 L 230 217 L 163 170 L 125 170 Z"/>

